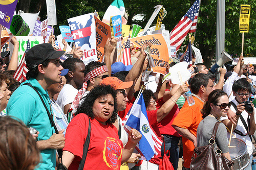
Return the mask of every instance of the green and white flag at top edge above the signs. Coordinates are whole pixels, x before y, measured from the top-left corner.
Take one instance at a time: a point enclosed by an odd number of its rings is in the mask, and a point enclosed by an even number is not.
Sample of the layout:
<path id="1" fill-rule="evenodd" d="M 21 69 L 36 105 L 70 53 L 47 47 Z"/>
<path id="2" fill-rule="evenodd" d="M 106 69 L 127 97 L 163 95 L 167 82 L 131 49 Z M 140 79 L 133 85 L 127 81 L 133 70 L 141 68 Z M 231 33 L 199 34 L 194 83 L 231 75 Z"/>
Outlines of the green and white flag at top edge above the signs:
<path id="1" fill-rule="evenodd" d="M 115 0 L 113 3 L 109 6 L 109 8 L 106 10 L 102 22 L 110 25 L 110 17 L 116 16 L 116 15 L 124 15 L 124 4 L 122 0 Z"/>

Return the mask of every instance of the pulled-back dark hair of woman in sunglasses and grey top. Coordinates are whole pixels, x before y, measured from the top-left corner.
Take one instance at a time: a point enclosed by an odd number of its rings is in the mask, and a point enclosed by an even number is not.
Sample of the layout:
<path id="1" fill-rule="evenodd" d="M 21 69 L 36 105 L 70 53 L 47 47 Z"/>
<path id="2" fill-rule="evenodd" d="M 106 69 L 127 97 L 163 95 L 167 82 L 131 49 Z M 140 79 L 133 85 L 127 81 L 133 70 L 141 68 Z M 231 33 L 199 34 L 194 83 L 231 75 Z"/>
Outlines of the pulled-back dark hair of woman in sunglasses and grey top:
<path id="1" fill-rule="evenodd" d="M 227 95 L 225 91 L 222 91 L 220 89 L 211 91 L 208 95 L 208 100 L 204 103 L 203 109 L 201 110 L 201 113 L 203 114 L 202 117 L 205 118 L 210 114 L 211 108 L 210 103 L 218 103 L 219 98 L 223 95 Z"/>

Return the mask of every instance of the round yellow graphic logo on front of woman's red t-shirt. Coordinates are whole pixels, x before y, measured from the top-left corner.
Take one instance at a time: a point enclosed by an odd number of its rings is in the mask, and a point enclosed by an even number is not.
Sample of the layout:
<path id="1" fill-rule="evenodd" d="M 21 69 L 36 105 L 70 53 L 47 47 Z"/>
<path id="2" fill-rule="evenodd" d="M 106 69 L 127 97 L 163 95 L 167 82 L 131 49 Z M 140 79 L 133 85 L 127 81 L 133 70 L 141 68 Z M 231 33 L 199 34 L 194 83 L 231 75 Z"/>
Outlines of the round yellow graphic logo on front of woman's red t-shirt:
<path id="1" fill-rule="evenodd" d="M 107 137 L 104 142 L 103 159 L 110 168 L 118 169 L 118 161 L 122 155 L 122 147 L 113 137 Z"/>

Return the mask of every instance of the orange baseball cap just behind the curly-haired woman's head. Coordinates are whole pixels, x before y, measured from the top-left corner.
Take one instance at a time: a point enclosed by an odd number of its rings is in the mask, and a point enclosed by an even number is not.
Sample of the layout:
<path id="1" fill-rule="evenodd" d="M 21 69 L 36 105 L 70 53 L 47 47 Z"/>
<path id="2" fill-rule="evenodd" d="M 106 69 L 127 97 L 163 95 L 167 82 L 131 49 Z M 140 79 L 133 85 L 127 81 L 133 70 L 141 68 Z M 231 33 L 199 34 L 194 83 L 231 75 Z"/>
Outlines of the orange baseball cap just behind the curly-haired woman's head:
<path id="1" fill-rule="evenodd" d="M 125 88 L 130 88 L 133 85 L 133 81 L 131 82 L 123 82 L 119 80 L 117 77 L 107 77 L 103 79 L 100 84 L 105 84 L 105 85 L 111 85 L 115 90 L 118 89 L 125 89 Z"/>

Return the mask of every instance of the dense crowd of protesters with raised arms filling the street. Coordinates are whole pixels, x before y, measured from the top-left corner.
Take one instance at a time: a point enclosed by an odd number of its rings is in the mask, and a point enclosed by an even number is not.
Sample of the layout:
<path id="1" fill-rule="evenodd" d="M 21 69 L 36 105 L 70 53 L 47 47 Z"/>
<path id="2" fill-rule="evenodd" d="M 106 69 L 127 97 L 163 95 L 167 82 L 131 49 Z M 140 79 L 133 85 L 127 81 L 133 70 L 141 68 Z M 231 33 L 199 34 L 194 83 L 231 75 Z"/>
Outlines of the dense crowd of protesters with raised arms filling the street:
<path id="1" fill-rule="evenodd" d="M 220 69 L 218 84 L 203 63 L 187 68 L 191 72 L 198 68 L 188 84 L 174 84 L 171 79 L 161 83 L 163 76 L 159 78 L 153 71 L 149 81 L 143 82 L 148 65 L 144 48 L 151 47 L 149 42 L 136 52 L 131 44 L 135 54 L 132 65 L 125 66 L 115 59 L 117 40 L 112 37 L 104 47 L 104 62 L 84 65 L 79 48 L 73 47 L 68 53 L 56 50 L 51 39 L 27 52 L 29 71 L 22 84 L 13 79 L 19 47 L 15 36 L 10 41 L 14 45 L 12 56 L 2 53 L 0 58 L 0 169 L 55 169 L 60 163 L 78 169 L 88 136 L 84 169 L 159 169 L 163 145 L 161 153 L 142 160 L 143 155 L 135 149 L 142 135 L 136 129 L 127 134 L 122 125 L 142 84 L 146 87 L 142 95 L 148 122 L 157 137 L 164 139 L 174 169 L 178 169 L 179 157 L 183 157 L 183 169 L 189 169 L 195 147 L 208 144 L 218 121 L 223 123 L 216 135 L 222 154 L 231 159 L 227 127 L 241 132 L 234 135 L 245 141 L 252 159 L 254 106 L 247 111 L 244 102 L 254 99 L 256 76 L 253 65 L 243 64 L 243 56 L 236 66 L 227 65 L 227 72 Z M 62 42 L 67 46 L 65 40 Z M 60 60 L 63 56 L 65 59 Z M 166 66 L 166 74 L 175 64 Z M 187 87 L 195 101 L 192 106 L 184 95 Z M 248 132 L 242 117 L 249 118 Z M 32 135 L 29 127 L 34 129 Z M 59 162 L 56 150 L 61 149 Z"/>

